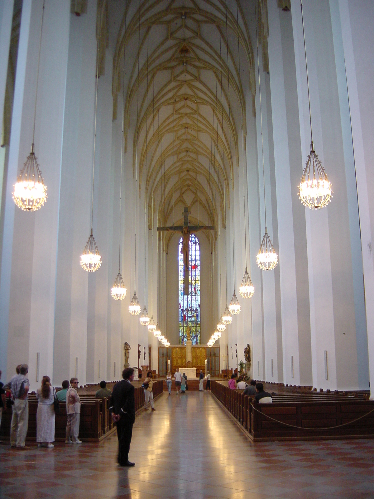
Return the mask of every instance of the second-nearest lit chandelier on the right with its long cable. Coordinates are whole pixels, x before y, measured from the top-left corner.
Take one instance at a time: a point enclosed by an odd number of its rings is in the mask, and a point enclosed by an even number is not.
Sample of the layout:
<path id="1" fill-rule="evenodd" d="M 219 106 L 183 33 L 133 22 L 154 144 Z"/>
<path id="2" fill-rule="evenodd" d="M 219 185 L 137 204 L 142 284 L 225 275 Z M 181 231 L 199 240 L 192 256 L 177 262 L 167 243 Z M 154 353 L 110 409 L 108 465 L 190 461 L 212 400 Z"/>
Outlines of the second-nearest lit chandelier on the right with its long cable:
<path id="1" fill-rule="evenodd" d="M 265 166 L 264 166 L 264 139 L 262 131 L 262 105 L 261 105 L 261 80 L 260 80 L 260 65 L 258 57 L 258 36 L 257 36 L 257 17 L 255 3 L 255 19 L 256 19 L 256 41 L 257 41 L 257 69 L 258 69 L 258 92 L 260 97 L 260 117 L 261 117 L 261 145 L 262 145 L 262 178 L 264 182 L 264 207 L 265 207 L 265 234 L 262 238 L 260 250 L 257 253 L 256 262 L 261 270 L 273 270 L 278 263 L 278 256 L 274 250 L 273 244 L 267 233 L 266 227 L 266 197 L 265 197 Z"/>

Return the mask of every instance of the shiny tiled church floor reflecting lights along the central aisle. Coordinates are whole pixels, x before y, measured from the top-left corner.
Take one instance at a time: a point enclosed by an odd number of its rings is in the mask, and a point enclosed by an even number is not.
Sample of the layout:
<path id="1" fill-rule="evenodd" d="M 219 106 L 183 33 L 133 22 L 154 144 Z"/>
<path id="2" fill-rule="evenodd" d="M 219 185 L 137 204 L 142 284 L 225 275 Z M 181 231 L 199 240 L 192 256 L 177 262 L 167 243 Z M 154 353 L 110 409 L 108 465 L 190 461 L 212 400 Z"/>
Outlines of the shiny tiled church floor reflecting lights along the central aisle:
<path id="1" fill-rule="evenodd" d="M 374 498 L 374 441 L 251 444 L 209 393 L 164 393 L 136 420 L 130 459 L 99 445 L 0 446 L 1 498 Z"/>

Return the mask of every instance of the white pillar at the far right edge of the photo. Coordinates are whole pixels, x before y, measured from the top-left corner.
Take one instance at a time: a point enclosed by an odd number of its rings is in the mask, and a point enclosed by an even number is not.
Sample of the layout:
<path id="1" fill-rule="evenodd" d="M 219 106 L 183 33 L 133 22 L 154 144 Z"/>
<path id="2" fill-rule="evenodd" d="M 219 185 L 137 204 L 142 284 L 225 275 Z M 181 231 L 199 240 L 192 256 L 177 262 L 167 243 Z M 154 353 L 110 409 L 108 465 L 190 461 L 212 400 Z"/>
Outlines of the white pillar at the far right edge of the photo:
<path id="1" fill-rule="evenodd" d="M 339 1 L 344 59 L 349 95 L 352 138 L 359 200 L 362 259 L 365 280 L 371 398 L 374 387 L 374 201 L 373 201 L 373 30 L 371 1 Z"/>

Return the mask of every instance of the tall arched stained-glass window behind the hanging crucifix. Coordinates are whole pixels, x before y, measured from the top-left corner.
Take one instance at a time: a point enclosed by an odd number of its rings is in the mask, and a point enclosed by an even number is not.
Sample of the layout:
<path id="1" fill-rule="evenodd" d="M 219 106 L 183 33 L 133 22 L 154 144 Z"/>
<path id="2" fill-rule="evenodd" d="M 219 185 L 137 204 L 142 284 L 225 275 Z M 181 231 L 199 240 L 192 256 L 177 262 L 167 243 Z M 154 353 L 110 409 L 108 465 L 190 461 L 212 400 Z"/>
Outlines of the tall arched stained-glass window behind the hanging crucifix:
<path id="1" fill-rule="evenodd" d="M 200 344 L 200 245 L 194 234 L 189 237 L 189 294 L 185 294 L 184 264 L 181 254 L 183 238 L 179 242 L 179 342 L 187 341 L 189 327 L 192 345 Z"/>

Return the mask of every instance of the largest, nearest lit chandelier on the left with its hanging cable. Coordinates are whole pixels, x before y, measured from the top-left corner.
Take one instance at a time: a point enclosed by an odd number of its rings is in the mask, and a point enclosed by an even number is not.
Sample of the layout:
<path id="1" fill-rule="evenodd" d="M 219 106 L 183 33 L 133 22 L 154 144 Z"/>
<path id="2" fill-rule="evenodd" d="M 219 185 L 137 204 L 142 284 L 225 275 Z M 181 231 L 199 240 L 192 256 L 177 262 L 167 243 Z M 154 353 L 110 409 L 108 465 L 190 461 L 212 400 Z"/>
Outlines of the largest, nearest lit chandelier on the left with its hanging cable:
<path id="1" fill-rule="evenodd" d="M 34 126 L 32 131 L 31 152 L 27 156 L 26 161 L 20 174 L 17 177 L 17 182 L 14 184 L 12 193 L 14 203 L 25 212 L 35 212 L 39 210 L 47 200 L 47 187 L 44 185 L 43 177 L 39 169 L 37 158 L 34 153 L 34 137 L 35 137 L 35 119 L 36 119 L 36 101 L 38 94 L 39 82 L 39 66 L 40 66 L 40 49 L 41 49 L 41 34 L 43 31 L 44 19 L 44 1 L 41 14 L 40 40 L 39 40 L 39 56 L 36 75 L 36 90 L 35 90 L 35 106 L 34 106 Z"/>

